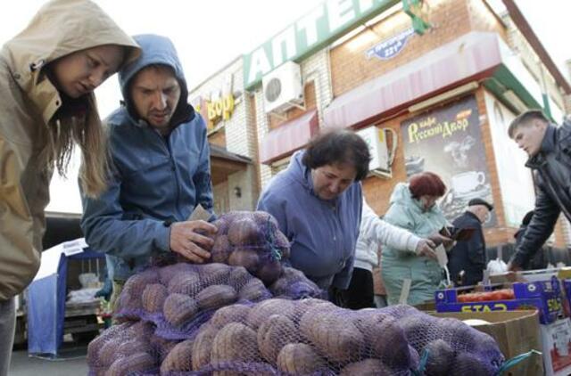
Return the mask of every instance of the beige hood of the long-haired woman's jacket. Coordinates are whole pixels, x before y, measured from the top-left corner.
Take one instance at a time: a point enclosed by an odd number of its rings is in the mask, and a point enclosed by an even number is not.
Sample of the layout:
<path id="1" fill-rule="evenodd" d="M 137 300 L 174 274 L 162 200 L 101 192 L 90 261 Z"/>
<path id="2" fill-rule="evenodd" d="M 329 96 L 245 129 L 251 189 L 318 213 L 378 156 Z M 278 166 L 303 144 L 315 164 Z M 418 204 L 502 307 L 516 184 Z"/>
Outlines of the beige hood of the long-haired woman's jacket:
<path id="1" fill-rule="evenodd" d="M 98 45 L 128 47 L 125 62 L 140 53 L 133 38 L 95 3 L 88 0 L 54 0 L 45 4 L 26 29 L 2 50 L 12 76 L 48 123 L 62 105 L 62 98 L 46 78 L 44 67 L 70 53 Z M 87 94 L 89 106 L 95 95 Z"/>

